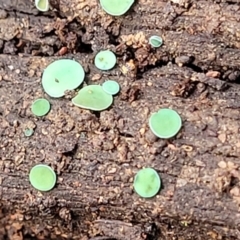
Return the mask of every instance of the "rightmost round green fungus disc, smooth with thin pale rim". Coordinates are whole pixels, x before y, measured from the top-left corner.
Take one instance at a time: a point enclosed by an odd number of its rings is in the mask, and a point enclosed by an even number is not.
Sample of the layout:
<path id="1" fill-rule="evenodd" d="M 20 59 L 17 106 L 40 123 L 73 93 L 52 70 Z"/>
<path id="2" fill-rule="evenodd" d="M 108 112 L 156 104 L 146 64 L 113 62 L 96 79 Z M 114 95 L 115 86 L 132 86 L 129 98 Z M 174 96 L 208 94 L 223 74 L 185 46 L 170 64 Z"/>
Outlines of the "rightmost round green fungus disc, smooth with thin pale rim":
<path id="1" fill-rule="evenodd" d="M 181 129 L 182 119 L 176 111 L 163 108 L 151 115 L 149 126 L 157 137 L 169 139 Z"/>

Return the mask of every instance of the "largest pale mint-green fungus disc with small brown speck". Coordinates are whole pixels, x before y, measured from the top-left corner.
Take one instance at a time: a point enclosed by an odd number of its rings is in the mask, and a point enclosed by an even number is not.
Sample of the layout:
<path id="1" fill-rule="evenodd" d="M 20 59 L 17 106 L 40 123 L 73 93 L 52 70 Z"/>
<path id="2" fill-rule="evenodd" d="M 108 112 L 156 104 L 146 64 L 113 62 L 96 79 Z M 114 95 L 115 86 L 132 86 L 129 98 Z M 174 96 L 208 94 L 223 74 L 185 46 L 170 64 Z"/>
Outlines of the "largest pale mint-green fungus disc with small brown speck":
<path id="1" fill-rule="evenodd" d="M 83 82 L 85 72 L 78 62 L 71 59 L 60 59 L 52 62 L 44 70 L 42 86 L 53 98 L 64 96 L 67 90 L 74 90 Z"/>

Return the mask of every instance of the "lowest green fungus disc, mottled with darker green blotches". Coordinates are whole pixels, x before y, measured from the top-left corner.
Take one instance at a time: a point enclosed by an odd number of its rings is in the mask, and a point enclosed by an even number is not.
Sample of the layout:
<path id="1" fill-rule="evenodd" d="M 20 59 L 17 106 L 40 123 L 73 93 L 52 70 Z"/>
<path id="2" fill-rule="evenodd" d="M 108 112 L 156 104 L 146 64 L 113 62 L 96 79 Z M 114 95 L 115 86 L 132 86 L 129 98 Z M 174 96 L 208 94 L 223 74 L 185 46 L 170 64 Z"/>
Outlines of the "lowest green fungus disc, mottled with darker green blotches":
<path id="1" fill-rule="evenodd" d="M 143 168 L 134 177 L 133 188 L 143 198 L 154 197 L 161 188 L 161 179 L 153 168 Z"/>

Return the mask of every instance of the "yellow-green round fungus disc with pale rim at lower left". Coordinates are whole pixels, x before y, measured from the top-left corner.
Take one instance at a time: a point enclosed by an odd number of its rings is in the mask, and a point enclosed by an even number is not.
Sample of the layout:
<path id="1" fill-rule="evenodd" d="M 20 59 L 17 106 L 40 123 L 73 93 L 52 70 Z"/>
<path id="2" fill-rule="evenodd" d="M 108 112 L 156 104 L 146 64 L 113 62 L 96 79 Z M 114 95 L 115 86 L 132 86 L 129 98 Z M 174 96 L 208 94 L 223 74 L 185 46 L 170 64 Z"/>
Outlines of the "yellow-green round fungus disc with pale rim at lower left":
<path id="1" fill-rule="evenodd" d="M 31 185 L 39 191 L 50 191 L 56 184 L 57 177 L 53 169 L 44 164 L 35 165 L 29 173 Z"/>

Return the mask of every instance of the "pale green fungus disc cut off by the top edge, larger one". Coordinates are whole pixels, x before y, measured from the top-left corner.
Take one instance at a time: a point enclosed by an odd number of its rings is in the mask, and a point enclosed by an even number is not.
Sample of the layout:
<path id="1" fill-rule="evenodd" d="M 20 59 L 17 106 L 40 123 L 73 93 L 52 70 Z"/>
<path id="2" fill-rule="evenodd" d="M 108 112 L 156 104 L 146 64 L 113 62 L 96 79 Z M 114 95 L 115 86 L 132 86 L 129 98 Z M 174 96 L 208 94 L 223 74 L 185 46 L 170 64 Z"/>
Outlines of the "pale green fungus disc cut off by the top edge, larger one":
<path id="1" fill-rule="evenodd" d="M 103 10 L 112 16 L 125 14 L 133 5 L 134 0 L 100 0 Z"/>

